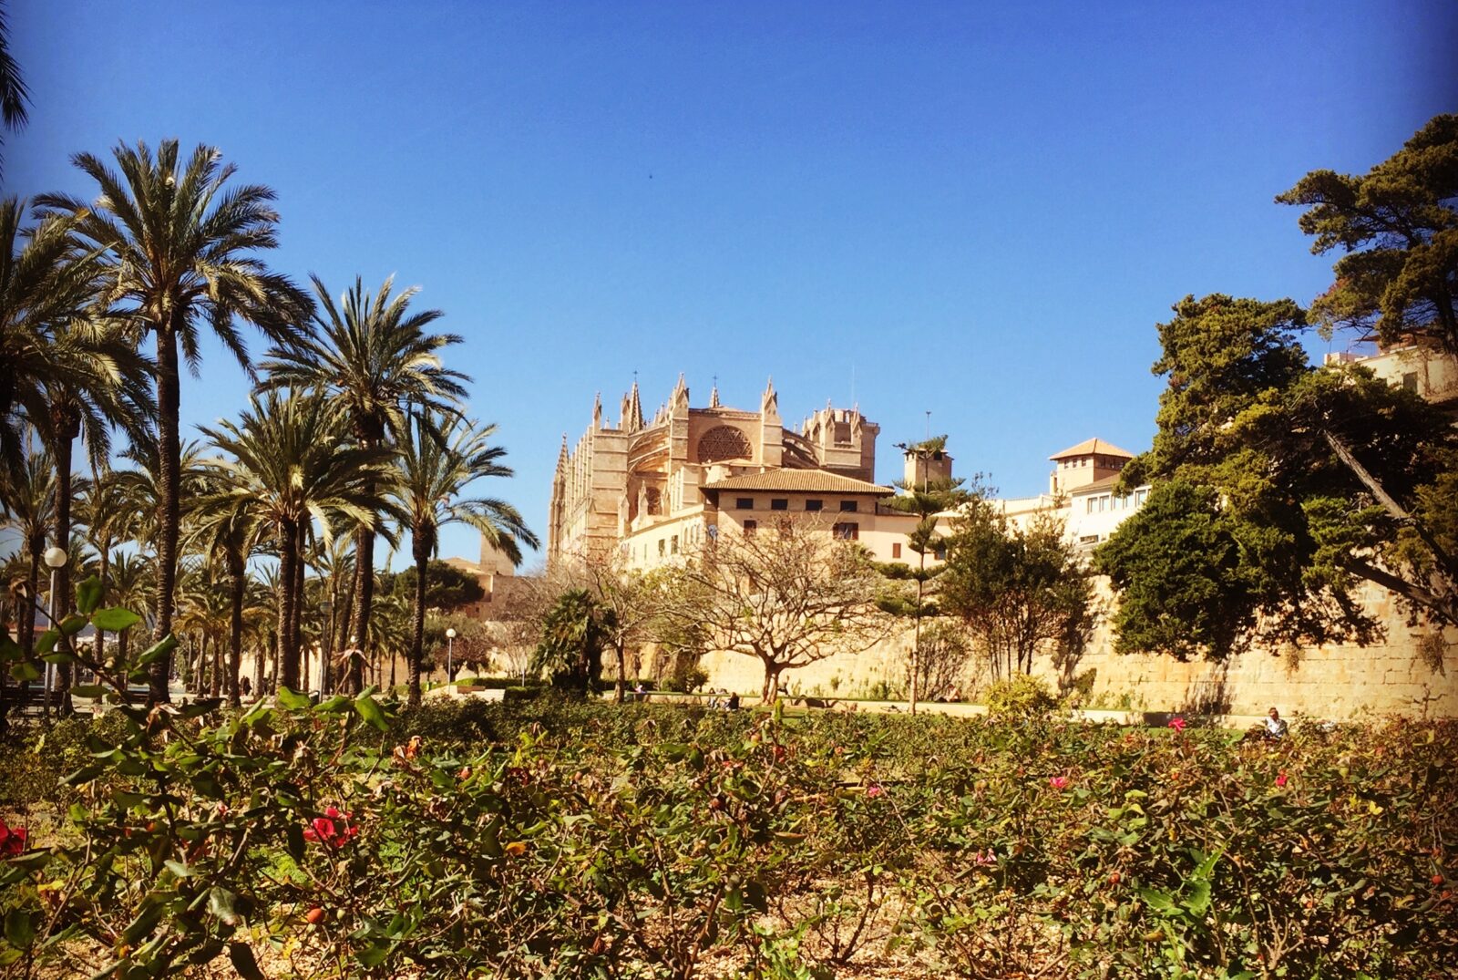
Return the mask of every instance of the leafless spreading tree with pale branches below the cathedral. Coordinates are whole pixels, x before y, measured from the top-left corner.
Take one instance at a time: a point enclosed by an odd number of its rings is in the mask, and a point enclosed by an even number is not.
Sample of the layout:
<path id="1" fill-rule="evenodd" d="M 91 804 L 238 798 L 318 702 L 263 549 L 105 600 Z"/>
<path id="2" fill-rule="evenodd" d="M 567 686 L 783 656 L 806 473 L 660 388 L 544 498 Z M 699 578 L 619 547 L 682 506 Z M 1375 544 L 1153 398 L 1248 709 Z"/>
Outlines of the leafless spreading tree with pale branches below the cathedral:
<path id="1" fill-rule="evenodd" d="M 665 573 L 663 586 L 666 626 L 703 630 L 709 649 L 764 665 L 765 704 L 779 696 L 784 671 L 866 650 L 889 626 L 875 604 L 878 576 L 865 550 L 815 524 L 710 537 Z"/>

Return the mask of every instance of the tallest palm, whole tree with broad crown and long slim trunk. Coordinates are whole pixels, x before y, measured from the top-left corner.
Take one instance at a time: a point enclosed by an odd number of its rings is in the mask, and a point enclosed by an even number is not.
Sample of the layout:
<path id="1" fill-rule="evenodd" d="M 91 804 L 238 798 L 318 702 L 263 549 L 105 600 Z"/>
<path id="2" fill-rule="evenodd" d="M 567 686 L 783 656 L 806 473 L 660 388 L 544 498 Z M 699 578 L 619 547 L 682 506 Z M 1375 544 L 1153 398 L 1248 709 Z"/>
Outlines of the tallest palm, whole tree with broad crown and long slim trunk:
<path id="1" fill-rule="evenodd" d="M 133 330 L 156 340 L 160 462 L 156 639 L 172 631 L 179 535 L 181 446 L 178 438 L 179 354 L 195 369 L 206 324 L 248 369 L 248 350 L 235 319 L 246 319 L 278 344 L 297 337 L 312 303 L 289 279 L 268 271 L 257 252 L 277 245 L 274 192 L 262 185 L 225 184 L 232 165 L 198 146 L 184 163 L 176 140 L 157 155 L 144 143 L 112 152 L 120 175 L 90 153 L 71 158 L 101 190 L 93 209 L 74 197 L 48 194 L 50 213 L 77 216 L 76 232 L 106 249 L 105 290 Z M 169 658 L 152 669 L 152 700 L 168 700 Z"/>

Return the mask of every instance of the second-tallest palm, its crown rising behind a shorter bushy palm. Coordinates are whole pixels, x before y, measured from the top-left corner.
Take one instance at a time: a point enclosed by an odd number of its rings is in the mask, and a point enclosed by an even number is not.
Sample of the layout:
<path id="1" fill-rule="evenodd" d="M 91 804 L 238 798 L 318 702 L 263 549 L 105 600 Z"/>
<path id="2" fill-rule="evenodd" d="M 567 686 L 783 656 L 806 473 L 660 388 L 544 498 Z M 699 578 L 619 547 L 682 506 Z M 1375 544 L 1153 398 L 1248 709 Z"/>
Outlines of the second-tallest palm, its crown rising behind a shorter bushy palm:
<path id="1" fill-rule="evenodd" d="M 354 439 L 367 449 L 404 442 L 411 404 L 455 416 L 456 402 L 465 397 L 462 385 L 469 382 L 440 363 L 440 351 L 461 343 L 461 337 L 426 332 L 443 314 L 410 309 L 418 289 L 391 296 L 392 287 L 394 277 L 370 296 L 356 277 L 354 289 L 335 305 L 315 276 L 315 332 L 292 349 L 270 351 L 270 360 L 262 363 L 262 386 L 313 388 L 346 405 Z M 354 554 L 353 608 L 341 636 L 359 637 L 364 645 L 375 598 L 375 532 L 366 525 L 356 534 Z M 353 659 L 346 690 L 359 691 L 360 669 L 359 659 Z"/>

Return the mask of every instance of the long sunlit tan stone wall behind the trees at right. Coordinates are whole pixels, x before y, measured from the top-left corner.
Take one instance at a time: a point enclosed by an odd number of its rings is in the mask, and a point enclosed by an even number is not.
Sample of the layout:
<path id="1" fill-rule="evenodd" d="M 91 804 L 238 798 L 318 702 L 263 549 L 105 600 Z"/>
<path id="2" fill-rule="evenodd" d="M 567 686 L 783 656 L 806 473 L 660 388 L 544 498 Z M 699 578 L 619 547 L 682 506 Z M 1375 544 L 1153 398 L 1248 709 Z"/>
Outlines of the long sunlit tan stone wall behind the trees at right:
<path id="1" fill-rule="evenodd" d="M 1107 605 L 1104 582 L 1099 595 Z M 1439 646 L 1432 642 L 1432 630 L 1407 624 L 1387 591 L 1369 586 L 1362 598 L 1387 631 L 1385 640 L 1368 648 L 1337 643 L 1251 649 L 1223 662 L 1180 662 L 1115 653 L 1108 618 L 1101 617 L 1076 664 L 1060 669 L 1051 658 L 1040 656 L 1034 672 L 1050 682 L 1077 682 L 1089 707 L 1264 715 L 1274 704 L 1287 716 L 1458 718 L 1458 630 L 1448 630 Z M 898 634 L 865 653 L 840 653 L 786 672 L 781 687 L 821 697 L 868 697 L 881 684 L 901 693 L 908 649 L 910 636 Z M 751 694 L 764 681 L 763 666 L 748 656 L 716 652 L 704 658 L 703 666 L 712 688 Z M 964 690 L 986 681 L 967 680 Z"/>

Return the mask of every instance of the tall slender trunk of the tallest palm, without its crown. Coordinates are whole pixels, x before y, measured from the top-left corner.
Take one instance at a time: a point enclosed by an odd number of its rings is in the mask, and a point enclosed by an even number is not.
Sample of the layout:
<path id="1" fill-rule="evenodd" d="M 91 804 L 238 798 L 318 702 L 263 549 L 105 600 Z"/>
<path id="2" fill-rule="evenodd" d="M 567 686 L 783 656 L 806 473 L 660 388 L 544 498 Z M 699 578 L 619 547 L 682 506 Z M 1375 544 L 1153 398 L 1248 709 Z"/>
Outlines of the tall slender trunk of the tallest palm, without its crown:
<path id="1" fill-rule="evenodd" d="M 178 531 L 182 484 L 182 449 L 178 440 L 178 341 L 174 324 L 157 324 L 157 465 L 162 477 L 157 486 L 157 598 L 152 639 L 162 640 L 172 631 L 174 592 L 178 575 Z M 157 659 L 152 668 L 149 703 L 166 703 L 172 655 Z"/>

